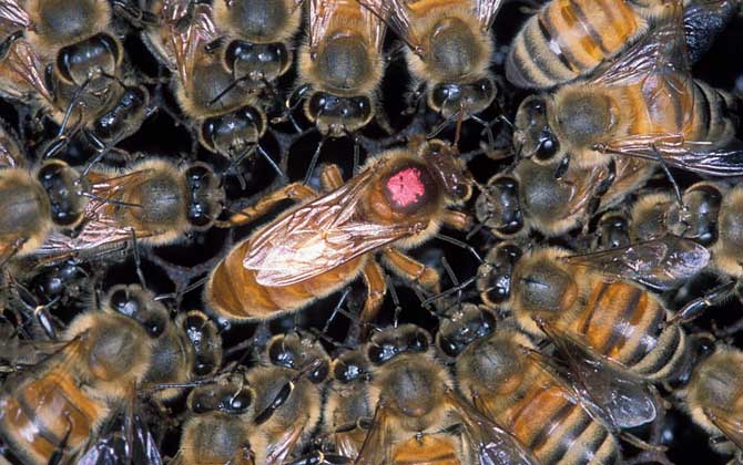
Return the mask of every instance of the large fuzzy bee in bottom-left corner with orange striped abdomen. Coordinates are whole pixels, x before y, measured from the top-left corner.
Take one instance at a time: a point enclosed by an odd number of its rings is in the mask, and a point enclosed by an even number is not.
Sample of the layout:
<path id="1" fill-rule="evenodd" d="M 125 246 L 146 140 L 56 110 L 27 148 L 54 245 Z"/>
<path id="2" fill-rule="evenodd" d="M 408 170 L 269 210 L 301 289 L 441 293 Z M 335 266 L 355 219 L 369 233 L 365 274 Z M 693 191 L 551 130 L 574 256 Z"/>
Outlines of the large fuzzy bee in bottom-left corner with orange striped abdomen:
<path id="1" fill-rule="evenodd" d="M 70 323 L 48 358 L 3 384 L 0 437 L 22 463 L 85 463 L 100 456 L 98 438 L 114 415 L 134 415 L 128 405 L 150 369 L 167 313 L 132 306 L 118 298 L 121 292 L 112 288 L 101 310 Z M 130 450 L 147 450 L 140 442 L 152 437 L 141 422 L 132 424 L 140 426 Z M 161 463 L 156 451 L 146 458 Z"/>

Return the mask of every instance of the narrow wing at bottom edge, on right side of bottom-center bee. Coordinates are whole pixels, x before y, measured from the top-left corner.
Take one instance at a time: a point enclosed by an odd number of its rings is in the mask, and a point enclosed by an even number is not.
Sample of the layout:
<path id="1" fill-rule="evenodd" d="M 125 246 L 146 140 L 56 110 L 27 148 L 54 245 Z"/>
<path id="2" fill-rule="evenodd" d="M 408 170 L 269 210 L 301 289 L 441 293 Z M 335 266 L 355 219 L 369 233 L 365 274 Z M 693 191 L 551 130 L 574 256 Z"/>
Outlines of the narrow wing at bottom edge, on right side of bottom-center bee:
<path id="1" fill-rule="evenodd" d="M 476 451 L 480 465 L 537 465 L 539 461 L 521 445 L 511 433 L 478 412 L 452 391 L 447 390 L 447 401 L 462 420 L 464 435 Z"/>

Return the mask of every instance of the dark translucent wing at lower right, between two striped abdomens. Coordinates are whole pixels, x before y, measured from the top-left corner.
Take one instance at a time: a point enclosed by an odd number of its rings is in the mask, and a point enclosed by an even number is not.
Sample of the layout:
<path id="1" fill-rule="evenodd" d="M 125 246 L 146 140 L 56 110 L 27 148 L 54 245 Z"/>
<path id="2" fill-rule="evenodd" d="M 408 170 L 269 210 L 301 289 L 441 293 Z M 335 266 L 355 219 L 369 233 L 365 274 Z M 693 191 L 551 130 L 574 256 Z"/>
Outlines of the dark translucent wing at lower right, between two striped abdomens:
<path id="1" fill-rule="evenodd" d="M 643 380 L 547 321 L 539 319 L 537 323 L 564 358 L 568 370 L 561 374 L 593 416 L 614 428 L 635 427 L 655 420 L 655 396 Z"/>

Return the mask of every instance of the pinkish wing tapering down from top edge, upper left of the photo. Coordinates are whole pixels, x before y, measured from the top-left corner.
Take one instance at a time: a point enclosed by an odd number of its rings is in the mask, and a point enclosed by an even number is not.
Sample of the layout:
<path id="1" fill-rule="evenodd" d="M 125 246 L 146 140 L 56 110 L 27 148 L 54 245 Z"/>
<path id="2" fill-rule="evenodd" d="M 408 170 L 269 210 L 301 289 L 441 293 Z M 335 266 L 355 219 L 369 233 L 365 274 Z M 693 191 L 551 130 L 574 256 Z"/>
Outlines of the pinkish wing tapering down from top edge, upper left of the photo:
<path id="1" fill-rule="evenodd" d="M 212 6 L 191 0 L 165 0 L 163 20 L 170 29 L 170 49 L 174 68 L 184 89 L 190 89 L 191 76 L 200 48 L 218 37 L 212 19 Z"/>

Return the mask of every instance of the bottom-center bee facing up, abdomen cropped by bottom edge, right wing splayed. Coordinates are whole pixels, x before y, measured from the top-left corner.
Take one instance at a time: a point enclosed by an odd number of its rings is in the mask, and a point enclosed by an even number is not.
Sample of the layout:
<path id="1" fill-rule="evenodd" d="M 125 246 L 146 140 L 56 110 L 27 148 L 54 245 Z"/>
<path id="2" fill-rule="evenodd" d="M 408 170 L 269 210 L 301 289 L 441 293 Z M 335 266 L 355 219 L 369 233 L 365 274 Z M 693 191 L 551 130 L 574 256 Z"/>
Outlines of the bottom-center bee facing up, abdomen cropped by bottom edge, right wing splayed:
<path id="1" fill-rule="evenodd" d="M 413 324 L 384 330 L 365 351 L 376 407 L 354 463 L 538 463 L 511 433 L 454 391 L 425 330 Z"/>

